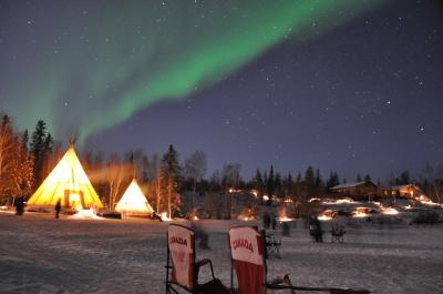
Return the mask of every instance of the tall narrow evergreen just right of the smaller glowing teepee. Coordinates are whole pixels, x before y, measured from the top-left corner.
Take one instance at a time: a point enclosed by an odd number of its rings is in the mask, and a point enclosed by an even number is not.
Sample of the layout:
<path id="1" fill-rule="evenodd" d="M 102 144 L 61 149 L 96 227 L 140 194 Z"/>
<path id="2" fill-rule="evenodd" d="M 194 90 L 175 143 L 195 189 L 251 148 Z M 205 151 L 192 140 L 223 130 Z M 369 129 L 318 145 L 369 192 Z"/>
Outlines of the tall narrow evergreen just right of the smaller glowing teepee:
<path id="1" fill-rule="evenodd" d="M 179 210 L 182 206 L 178 195 L 182 182 L 182 168 L 178 164 L 178 154 L 171 144 L 168 151 L 163 155 L 162 173 L 167 195 L 168 216 L 173 216 L 173 209 Z"/>

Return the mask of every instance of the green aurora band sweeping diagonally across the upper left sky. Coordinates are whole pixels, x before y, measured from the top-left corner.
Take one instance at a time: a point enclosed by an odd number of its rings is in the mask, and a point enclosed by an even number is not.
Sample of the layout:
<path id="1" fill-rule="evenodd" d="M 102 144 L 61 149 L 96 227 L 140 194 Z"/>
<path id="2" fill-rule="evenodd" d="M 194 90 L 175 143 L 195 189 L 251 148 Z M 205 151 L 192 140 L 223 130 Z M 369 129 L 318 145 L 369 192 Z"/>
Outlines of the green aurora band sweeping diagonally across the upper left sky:
<path id="1" fill-rule="evenodd" d="M 83 143 L 143 108 L 223 81 L 281 42 L 318 38 L 378 4 L 95 1 L 83 9 L 55 1 L 32 20 L 11 4 L 7 16 L 25 38 L 3 37 L 17 54 L 0 58 L 1 108 L 21 129 L 43 119 L 58 139 L 75 131 Z"/>

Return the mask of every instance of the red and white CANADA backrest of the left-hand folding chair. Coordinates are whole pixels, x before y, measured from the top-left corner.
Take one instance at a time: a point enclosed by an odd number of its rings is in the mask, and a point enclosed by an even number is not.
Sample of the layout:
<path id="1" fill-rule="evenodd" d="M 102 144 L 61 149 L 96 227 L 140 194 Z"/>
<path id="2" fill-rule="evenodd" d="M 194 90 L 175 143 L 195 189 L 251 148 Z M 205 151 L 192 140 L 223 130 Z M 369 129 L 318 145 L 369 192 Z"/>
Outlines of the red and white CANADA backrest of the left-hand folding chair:
<path id="1" fill-rule="evenodd" d="M 194 231 L 178 224 L 167 229 L 171 254 L 171 282 L 192 291 L 194 288 L 195 239 Z"/>

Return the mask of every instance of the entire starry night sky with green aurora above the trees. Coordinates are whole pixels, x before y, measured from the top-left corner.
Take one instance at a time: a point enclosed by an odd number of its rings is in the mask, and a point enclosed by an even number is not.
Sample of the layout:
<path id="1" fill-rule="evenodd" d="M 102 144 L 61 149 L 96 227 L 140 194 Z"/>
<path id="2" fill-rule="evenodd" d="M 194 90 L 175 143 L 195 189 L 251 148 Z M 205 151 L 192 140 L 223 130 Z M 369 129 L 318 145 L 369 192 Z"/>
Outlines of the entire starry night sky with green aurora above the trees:
<path id="1" fill-rule="evenodd" d="M 440 1 L 2 1 L 0 111 L 111 152 L 385 180 L 443 162 Z"/>

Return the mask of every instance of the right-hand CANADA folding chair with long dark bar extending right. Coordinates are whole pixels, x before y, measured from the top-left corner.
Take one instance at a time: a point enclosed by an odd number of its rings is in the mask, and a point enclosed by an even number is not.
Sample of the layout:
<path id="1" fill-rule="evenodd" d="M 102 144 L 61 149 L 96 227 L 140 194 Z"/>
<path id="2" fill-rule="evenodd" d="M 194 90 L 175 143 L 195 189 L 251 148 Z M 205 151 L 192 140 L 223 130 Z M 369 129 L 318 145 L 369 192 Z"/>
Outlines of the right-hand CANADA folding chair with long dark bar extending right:
<path id="1" fill-rule="evenodd" d="M 230 288 L 236 294 L 266 294 L 278 290 L 310 292 L 329 292 L 330 294 L 369 294 L 367 290 L 343 290 L 331 287 L 301 287 L 293 286 L 289 276 L 274 280 L 268 283 L 266 280 L 266 239 L 265 233 L 259 232 L 255 226 L 236 226 L 229 230 L 228 246 L 231 258 Z M 237 275 L 238 288 L 234 290 L 234 270 Z"/>

